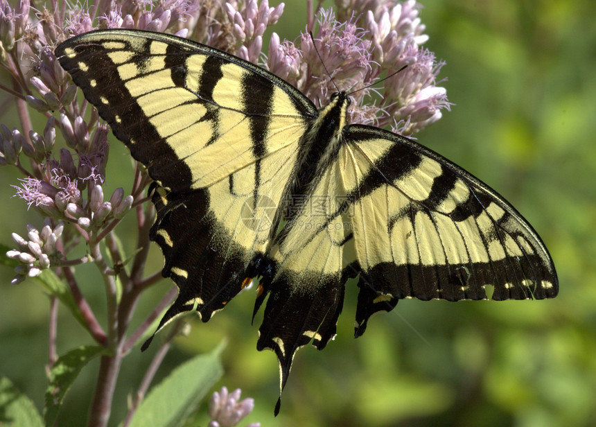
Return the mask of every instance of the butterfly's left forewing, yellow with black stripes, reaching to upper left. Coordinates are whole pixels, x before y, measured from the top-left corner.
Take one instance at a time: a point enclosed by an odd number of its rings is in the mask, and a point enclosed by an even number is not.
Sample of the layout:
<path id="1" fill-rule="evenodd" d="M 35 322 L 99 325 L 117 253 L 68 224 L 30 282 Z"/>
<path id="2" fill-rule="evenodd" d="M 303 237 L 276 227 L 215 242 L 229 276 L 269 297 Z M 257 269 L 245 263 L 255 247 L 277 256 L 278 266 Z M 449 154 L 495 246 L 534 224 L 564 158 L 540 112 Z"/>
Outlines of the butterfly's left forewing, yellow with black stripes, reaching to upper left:
<path id="1" fill-rule="evenodd" d="M 96 31 L 56 55 L 132 156 L 173 191 L 204 188 L 295 143 L 315 114 L 283 80 L 179 37 Z"/>

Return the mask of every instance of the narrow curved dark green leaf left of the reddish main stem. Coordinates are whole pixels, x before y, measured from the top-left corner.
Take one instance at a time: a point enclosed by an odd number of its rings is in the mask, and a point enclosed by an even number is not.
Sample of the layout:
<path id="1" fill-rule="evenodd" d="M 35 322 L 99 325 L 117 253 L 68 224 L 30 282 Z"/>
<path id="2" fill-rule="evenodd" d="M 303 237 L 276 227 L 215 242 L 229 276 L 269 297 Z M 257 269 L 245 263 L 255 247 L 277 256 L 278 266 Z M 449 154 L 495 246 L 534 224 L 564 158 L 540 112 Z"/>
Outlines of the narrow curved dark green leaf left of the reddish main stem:
<path id="1" fill-rule="evenodd" d="M 46 426 L 53 426 L 58 411 L 78 373 L 89 360 L 107 354 L 107 349 L 95 345 L 82 346 L 69 351 L 56 360 L 50 371 L 50 384 L 46 390 L 44 418 Z"/>

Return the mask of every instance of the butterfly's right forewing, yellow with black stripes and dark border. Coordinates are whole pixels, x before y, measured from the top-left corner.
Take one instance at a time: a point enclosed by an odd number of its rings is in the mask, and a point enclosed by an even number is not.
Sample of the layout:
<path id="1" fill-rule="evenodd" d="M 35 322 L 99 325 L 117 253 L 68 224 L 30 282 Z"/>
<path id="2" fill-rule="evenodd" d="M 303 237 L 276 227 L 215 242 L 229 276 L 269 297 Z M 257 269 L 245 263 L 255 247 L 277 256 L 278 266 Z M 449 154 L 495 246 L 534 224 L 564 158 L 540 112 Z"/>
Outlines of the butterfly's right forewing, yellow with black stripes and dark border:
<path id="1" fill-rule="evenodd" d="M 365 294 L 374 290 L 371 296 L 389 304 L 406 297 L 486 299 L 485 286 L 493 286 L 492 299 L 556 296 L 556 273 L 540 237 L 486 184 L 385 130 L 351 125 L 344 137 Z M 358 325 L 357 335 L 366 318 Z"/>

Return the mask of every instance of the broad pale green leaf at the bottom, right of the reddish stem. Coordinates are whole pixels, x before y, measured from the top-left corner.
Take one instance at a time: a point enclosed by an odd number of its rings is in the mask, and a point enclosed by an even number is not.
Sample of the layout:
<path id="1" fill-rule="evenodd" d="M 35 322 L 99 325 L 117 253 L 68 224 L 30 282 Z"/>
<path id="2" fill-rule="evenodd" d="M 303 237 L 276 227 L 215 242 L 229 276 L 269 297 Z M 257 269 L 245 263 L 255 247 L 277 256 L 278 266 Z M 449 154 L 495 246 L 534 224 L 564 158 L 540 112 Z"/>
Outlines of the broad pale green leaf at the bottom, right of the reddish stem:
<path id="1" fill-rule="evenodd" d="M 187 360 L 152 388 L 134 413 L 130 427 L 175 427 L 194 412 L 223 374 L 222 342 L 209 354 Z"/>

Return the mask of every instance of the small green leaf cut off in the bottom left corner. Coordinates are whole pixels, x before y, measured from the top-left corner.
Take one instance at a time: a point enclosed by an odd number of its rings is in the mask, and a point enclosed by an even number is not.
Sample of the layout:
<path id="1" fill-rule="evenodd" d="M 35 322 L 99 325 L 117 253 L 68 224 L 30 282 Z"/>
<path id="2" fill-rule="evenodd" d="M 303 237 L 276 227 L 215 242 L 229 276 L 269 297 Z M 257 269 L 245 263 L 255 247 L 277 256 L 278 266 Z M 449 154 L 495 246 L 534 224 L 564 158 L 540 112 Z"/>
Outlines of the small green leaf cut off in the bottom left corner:
<path id="1" fill-rule="evenodd" d="M 6 377 L 0 377 L 0 426 L 43 427 L 44 421 L 31 399 Z"/>

